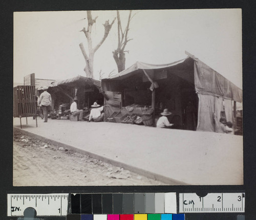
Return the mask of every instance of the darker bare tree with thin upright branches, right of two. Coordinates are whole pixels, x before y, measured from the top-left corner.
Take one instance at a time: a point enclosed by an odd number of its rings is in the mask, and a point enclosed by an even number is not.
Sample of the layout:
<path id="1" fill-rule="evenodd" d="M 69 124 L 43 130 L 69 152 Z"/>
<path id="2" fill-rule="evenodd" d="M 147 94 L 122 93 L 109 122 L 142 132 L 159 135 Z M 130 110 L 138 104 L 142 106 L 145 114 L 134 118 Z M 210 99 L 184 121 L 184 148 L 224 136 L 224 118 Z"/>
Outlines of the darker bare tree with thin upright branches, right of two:
<path id="1" fill-rule="evenodd" d="M 127 34 L 128 34 L 128 31 L 129 31 L 129 26 L 130 26 L 130 21 L 132 19 L 131 16 L 132 16 L 132 10 L 130 10 L 129 17 L 128 17 L 128 20 L 127 20 L 127 25 L 126 25 L 126 28 L 123 31 L 122 25 L 121 25 L 120 14 L 119 14 L 119 11 L 117 11 L 118 45 L 117 45 L 117 49 L 115 51 L 113 51 L 112 53 L 113 53 L 113 57 L 114 57 L 114 59 L 116 61 L 116 64 L 117 64 L 118 73 L 120 73 L 121 71 L 123 71 L 125 69 L 125 52 L 129 52 L 129 51 L 124 51 L 124 49 L 125 49 L 125 46 L 126 46 L 127 42 L 132 40 L 132 39 L 127 38 Z"/>

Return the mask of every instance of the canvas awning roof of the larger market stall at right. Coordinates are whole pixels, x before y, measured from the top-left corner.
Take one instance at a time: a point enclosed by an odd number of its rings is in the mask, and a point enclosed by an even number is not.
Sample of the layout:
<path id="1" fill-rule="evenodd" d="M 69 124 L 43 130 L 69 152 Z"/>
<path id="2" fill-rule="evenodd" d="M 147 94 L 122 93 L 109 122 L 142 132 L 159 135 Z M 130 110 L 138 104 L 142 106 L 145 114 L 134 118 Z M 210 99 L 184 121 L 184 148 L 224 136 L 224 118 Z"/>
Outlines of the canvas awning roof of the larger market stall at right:
<path id="1" fill-rule="evenodd" d="M 168 64 L 148 64 L 144 62 L 136 62 L 131 67 L 127 68 L 126 70 L 120 72 L 119 74 L 105 78 L 101 80 L 101 90 L 102 91 L 118 91 L 119 89 L 119 80 L 124 80 L 127 77 L 131 77 L 133 75 L 137 75 L 141 73 L 141 70 L 157 70 L 157 69 L 174 69 L 173 74 L 178 75 L 179 77 L 185 79 L 187 81 L 192 81 L 190 76 L 194 72 L 194 84 L 195 90 L 198 94 L 202 95 L 212 95 L 223 97 L 226 99 L 231 99 L 237 102 L 242 102 L 243 95 L 242 90 L 230 82 L 228 79 L 223 77 L 218 72 L 212 70 L 208 65 L 203 63 L 201 60 L 196 58 L 194 55 L 191 55 L 186 52 L 189 56 L 185 59 L 168 63 Z M 192 63 L 189 61 L 192 61 Z M 188 61 L 188 62 L 186 62 Z M 190 64 L 188 64 L 190 63 Z M 194 63 L 194 64 L 193 64 Z M 194 65 L 194 71 L 186 73 L 185 69 L 188 68 L 188 65 Z M 180 71 L 175 70 L 176 67 Z M 189 75 L 189 77 L 188 77 Z"/>

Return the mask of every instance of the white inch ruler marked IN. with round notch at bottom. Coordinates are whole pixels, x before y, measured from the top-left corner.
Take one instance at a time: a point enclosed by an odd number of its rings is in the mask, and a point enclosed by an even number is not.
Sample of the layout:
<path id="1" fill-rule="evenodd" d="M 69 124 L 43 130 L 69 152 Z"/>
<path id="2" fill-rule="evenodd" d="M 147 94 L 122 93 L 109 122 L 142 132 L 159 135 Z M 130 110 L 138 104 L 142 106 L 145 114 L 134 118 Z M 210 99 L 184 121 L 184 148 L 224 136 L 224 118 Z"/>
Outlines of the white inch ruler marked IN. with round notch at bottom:
<path id="1" fill-rule="evenodd" d="M 53 194 L 7 194 L 7 215 L 24 216 L 26 208 L 32 207 L 37 216 L 61 216 L 68 213 L 68 193 Z"/>

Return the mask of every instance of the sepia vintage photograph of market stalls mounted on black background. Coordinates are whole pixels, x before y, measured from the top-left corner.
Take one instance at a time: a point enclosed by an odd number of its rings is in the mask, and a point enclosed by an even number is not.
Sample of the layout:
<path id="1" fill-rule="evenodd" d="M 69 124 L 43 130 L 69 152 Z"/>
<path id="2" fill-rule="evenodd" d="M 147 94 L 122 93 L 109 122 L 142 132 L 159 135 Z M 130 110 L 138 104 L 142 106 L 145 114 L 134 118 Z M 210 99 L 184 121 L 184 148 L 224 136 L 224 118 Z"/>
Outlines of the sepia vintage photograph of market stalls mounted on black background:
<path id="1" fill-rule="evenodd" d="M 13 17 L 13 186 L 243 185 L 241 9 Z"/>

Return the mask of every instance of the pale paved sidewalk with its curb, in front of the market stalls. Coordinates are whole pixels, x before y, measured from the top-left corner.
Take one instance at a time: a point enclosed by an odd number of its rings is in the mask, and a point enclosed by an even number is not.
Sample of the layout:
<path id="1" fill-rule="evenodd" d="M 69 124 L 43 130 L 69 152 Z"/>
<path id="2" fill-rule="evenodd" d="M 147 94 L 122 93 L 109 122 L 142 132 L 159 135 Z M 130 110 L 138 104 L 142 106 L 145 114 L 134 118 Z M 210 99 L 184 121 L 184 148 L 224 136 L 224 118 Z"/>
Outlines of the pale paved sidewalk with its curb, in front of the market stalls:
<path id="1" fill-rule="evenodd" d="M 14 128 L 166 185 L 243 184 L 243 137 L 109 122 L 19 118 Z M 53 183 L 54 185 L 54 183 Z"/>

